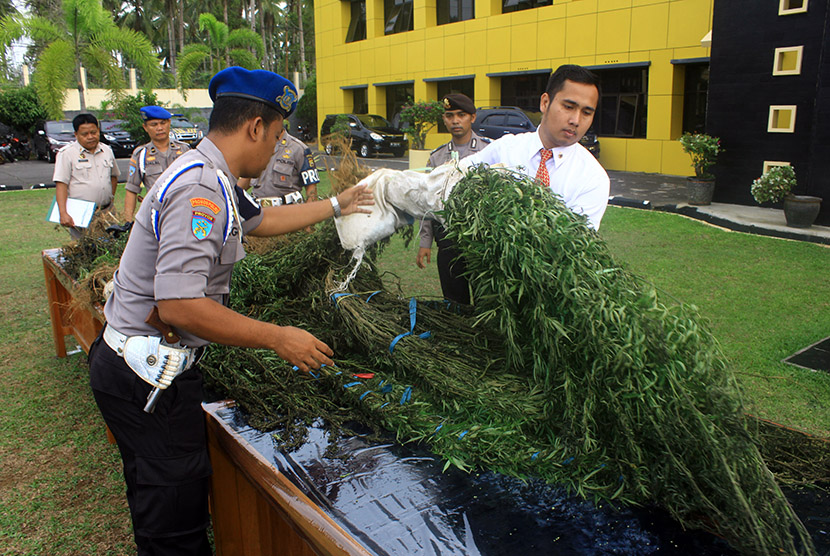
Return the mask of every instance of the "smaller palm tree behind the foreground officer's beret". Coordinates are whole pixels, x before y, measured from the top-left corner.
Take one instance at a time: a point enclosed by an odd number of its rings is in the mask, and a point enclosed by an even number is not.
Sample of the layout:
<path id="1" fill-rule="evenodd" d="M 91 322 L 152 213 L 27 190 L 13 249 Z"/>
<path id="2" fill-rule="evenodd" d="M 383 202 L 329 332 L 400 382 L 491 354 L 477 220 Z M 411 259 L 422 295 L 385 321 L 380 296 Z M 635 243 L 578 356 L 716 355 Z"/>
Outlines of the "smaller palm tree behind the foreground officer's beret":
<path id="1" fill-rule="evenodd" d="M 209 64 L 211 75 L 230 65 L 230 62 L 247 69 L 261 68 L 262 39 L 255 32 L 244 28 L 229 31 L 227 25 L 209 13 L 199 16 L 199 30 L 207 31 L 207 43 L 188 44 L 179 54 L 178 83 L 181 91 L 192 85 L 194 75 L 203 64 Z"/>

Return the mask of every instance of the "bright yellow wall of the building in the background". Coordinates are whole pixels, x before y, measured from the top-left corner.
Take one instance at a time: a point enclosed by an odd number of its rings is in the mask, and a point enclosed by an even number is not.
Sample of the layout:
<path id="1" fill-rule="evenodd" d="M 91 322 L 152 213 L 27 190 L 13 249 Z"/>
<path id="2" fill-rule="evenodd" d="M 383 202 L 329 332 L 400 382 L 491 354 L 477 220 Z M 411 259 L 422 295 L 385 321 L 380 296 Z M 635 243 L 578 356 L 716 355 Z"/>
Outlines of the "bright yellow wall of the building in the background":
<path id="1" fill-rule="evenodd" d="M 501 0 L 475 0 L 476 19 L 436 25 L 436 0 L 413 0 L 414 30 L 385 36 L 383 0 L 366 0 L 367 38 L 345 43 L 349 3 L 315 2 L 318 121 L 350 112 L 352 92 L 368 87 L 369 111 L 386 115 L 376 83 L 414 80 L 416 100 L 435 98 L 424 79 L 475 75 L 477 106 L 498 105 L 500 78 L 490 73 L 648 62 L 644 139 L 600 137 L 609 170 L 690 175 L 677 138 L 683 117 L 683 69 L 674 59 L 709 56 L 700 40 L 711 29 L 713 0 L 554 0 L 502 14 Z M 539 91 L 541 95 L 542 91 Z M 450 139 L 431 133 L 427 148 Z"/>

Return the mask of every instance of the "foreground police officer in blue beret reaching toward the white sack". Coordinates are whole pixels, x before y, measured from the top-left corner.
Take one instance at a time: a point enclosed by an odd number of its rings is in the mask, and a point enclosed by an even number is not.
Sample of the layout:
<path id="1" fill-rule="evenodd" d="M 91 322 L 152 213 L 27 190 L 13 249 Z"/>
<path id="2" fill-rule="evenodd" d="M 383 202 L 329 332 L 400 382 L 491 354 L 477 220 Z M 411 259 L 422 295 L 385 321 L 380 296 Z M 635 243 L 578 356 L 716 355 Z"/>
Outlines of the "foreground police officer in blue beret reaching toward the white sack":
<path id="1" fill-rule="evenodd" d="M 297 104 L 288 80 L 231 67 L 210 82 L 209 131 L 177 158 L 138 209 L 106 326 L 90 349 L 90 384 L 124 462 L 138 554 L 209 555 L 211 465 L 198 360 L 210 342 L 271 349 L 301 371 L 332 364 L 310 333 L 227 307 L 246 234 L 271 236 L 369 212 L 365 186 L 297 205 L 260 207 L 236 185 L 262 173 Z"/>

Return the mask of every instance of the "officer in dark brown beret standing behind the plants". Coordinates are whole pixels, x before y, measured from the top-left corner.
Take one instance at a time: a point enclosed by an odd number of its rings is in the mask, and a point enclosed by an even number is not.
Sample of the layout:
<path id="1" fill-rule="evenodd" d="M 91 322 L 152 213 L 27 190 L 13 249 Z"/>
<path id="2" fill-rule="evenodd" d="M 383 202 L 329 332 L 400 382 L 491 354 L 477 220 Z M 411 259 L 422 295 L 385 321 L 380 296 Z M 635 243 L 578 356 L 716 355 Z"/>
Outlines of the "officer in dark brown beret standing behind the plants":
<path id="1" fill-rule="evenodd" d="M 480 137 L 473 131 L 476 107 L 470 97 L 453 93 L 445 96 L 441 102 L 444 105 L 444 125 L 452 134 L 452 140 L 432 151 L 427 162 L 430 168 L 450 160 L 458 161 L 490 144 L 488 138 Z M 415 263 L 419 268 L 426 268 L 431 259 L 432 238 L 435 237 L 438 244 L 438 277 L 444 297 L 457 303 L 469 304 L 469 286 L 467 281 L 460 277 L 464 272 L 464 261 L 458 258 L 458 252 L 444 237 L 444 233 L 444 227 L 438 222 L 424 220 L 421 224 L 421 241 Z"/>

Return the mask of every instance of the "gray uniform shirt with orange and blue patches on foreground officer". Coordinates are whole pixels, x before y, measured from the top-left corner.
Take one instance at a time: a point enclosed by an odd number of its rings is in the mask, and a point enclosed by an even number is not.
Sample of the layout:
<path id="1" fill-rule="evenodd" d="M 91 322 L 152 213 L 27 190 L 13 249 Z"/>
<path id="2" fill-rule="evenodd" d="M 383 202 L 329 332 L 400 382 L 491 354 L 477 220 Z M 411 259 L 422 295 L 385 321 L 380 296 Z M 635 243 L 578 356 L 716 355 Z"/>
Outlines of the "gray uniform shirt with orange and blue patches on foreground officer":
<path id="1" fill-rule="evenodd" d="M 217 170 L 227 176 L 228 187 Z M 259 205 L 235 184 L 208 138 L 161 175 L 136 213 L 104 307 L 108 326 L 127 336 L 160 336 L 144 322 L 160 299 L 209 297 L 227 304 L 233 265 L 245 256 L 242 236 L 262 222 Z M 209 343 L 177 332 L 187 347 Z"/>

